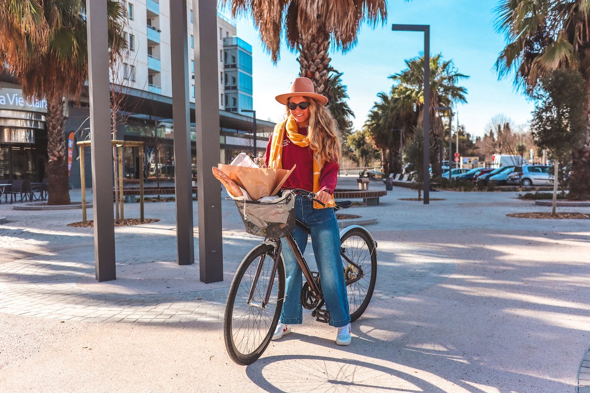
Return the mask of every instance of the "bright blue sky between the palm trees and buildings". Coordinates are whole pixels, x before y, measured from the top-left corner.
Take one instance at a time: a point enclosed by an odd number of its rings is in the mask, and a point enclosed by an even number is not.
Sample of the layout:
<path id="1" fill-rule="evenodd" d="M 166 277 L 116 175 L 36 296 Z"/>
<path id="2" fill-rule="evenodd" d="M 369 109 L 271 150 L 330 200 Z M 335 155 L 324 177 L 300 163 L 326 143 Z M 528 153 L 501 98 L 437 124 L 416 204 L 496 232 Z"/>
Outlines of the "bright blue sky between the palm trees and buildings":
<path id="1" fill-rule="evenodd" d="M 494 29 L 498 0 L 404 0 L 388 1 L 388 18 L 383 26 L 363 25 L 358 44 L 341 54 L 332 48 L 332 66 L 344 72 L 349 106 L 354 111 L 355 128 L 360 129 L 379 91 L 389 91 L 389 75 L 405 68 L 405 59 L 424 50 L 420 32 L 392 32 L 392 24 L 430 24 L 431 54 L 442 52 L 453 60 L 458 72 L 470 78 L 461 81 L 467 88 L 467 104 L 457 105 L 460 124 L 472 136 L 483 136 L 494 115 L 503 114 L 516 125 L 526 126 L 533 103 L 513 87 L 510 75 L 498 80 L 494 63 L 504 47 L 504 37 Z M 251 18 L 238 18 L 238 37 L 253 47 L 254 109 L 257 117 L 278 121 L 284 107 L 274 96 L 289 89 L 299 73 L 296 54 L 283 45 L 274 65 L 264 51 Z M 283 40 L 284 41 L 284 40 Z M 456 124 L 457 117 L 453 123 Z"/>

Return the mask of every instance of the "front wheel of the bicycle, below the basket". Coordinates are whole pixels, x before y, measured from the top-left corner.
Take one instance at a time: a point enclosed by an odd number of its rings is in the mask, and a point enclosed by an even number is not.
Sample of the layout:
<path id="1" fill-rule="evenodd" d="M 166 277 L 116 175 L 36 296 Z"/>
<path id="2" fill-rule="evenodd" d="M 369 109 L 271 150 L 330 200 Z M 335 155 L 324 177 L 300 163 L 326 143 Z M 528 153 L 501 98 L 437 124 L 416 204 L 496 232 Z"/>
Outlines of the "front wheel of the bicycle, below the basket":
<path id="1" fill-rule="evenodd" d="M 266 307 L 260 307 L 266 296 L 270 272 L 274 265 L 274 245 L 261 243 L 254 247 L 240 263 L 225 303 L 224 339 L 230 358 L 240 365 L 255 362 L 271 341 L 283 307 L 285 268 L 278 261 L 274 274 L 273 291 Z M 257 263 L 258 261 L 258 263 Z M 263 263 L 255 283 L 253 302 L 248 303 L 259 263 Z"/>

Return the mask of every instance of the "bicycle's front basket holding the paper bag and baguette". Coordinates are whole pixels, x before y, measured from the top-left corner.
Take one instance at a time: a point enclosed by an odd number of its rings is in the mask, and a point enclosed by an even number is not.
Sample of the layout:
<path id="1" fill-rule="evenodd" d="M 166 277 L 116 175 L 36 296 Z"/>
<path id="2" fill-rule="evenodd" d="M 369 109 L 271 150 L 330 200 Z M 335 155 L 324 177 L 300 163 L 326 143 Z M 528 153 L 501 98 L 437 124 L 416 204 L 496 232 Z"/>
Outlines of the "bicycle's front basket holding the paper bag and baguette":
<path id="1" fill-rule="evenodd" d="M 285 237 L 295 225 L 295 197 L 289 192 L 277 202 L 235 200 L 246 232 L 262 237 Z"/>

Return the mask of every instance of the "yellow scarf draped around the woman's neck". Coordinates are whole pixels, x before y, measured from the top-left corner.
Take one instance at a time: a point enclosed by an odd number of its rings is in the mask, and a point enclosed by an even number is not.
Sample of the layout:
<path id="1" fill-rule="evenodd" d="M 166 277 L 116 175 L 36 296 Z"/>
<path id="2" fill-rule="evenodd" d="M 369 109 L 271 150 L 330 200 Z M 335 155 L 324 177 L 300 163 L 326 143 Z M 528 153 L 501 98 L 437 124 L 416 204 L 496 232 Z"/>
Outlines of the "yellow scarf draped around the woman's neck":
<path id="1" fill-rule="evenodd" d="M 270 145 L 270 155 L 268 156 L 268 164 L 271 168 L 282 169 L 283 168 L 283 157 L 281 157 L 281 153 L 283 153 L 283 140 L 285 138 L 285 133 L 287 133 L 287 137 L 289 140 L 296 144 L 299 147 L 307 147 L 309 146 L 309 137 L 308 135 L 303 136 L 299 133 L 299 126 L 297 125 L 297 121 L 293 118 L 293 116 L 289 115 L 287 120 L 278 123 L 274 127 L 273 131 L 273 141 Z M 320 190 L 320 175 L 322 174 L 322 168 L 324 167 L 324 161 L 322 163 L 317 162 L 316 158 L 313 158 L 313 192 L 317 193 Z M 313 207 L 316 209 L 323 209 L 324 207 L 334 207 L 336 204 L 334 203 L 334 196 L 332 195 L 332 199 L 330 202 L 326 203 L 326 206 L 322 206 L 321 204 L 314 202 Z"/>

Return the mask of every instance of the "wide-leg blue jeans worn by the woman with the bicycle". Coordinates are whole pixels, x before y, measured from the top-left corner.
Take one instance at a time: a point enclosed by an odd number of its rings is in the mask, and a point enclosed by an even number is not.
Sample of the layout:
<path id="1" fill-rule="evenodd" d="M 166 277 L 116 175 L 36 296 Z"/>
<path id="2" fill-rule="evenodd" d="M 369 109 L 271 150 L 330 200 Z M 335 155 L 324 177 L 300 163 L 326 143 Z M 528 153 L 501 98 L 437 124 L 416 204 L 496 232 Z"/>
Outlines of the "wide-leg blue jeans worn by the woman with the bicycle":
<path id="1" fill-rule="evenodd" d="M 346 326 L 350 322 L 350 312 L 342 259 L 340 258 L 340 232 L 334 209 L 314 209 L 312 202 L 300 195 L 296 196 L 294 209 L 296 209 L 297 220 L 305 223 L 311 230 L 313 253 L 320 273 L 326 309 L 330 312 L 330 325 Z M 295 242 L 301 253 L 304 253 L 307 245 L 307 232 L 299 226 L 295 226 L 291 233 L 295 237 Z M 301 323 L 303 322 L 301 267 L 299 267 L 287 242 L 283 240 L 282 245 L 287 287 L 280 321 L 288 324 Z"/>

